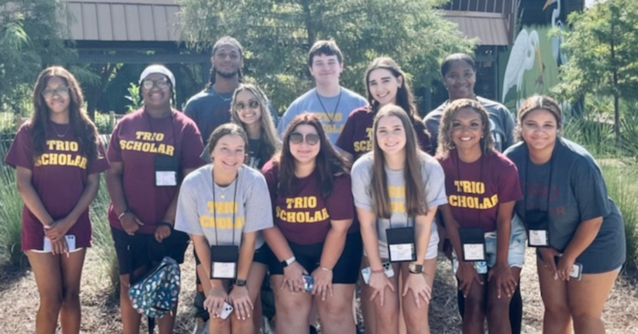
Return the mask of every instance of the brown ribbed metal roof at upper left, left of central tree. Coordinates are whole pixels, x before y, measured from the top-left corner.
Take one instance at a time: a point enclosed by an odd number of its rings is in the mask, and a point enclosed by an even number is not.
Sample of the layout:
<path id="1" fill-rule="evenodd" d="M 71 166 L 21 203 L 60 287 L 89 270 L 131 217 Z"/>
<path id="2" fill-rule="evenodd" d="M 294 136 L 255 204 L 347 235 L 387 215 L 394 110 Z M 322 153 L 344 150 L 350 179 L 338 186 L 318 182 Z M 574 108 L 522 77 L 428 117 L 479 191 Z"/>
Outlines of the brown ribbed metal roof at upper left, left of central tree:
<path id="1" fill-rule="evenodd" d="M 164 41 L 179 39 L 175 0 L 64 0 L 73 40 Z"/>

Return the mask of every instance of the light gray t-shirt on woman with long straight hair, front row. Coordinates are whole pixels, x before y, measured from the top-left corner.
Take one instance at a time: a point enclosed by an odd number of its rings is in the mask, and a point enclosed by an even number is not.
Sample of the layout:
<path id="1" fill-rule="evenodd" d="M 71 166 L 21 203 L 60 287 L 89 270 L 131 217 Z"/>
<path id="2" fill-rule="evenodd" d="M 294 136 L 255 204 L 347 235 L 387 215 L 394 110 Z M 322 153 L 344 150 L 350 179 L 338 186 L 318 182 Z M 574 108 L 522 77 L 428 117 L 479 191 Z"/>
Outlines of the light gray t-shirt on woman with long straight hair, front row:
<path id="1" fill-rule="evenodd" d="M 433 157 L 426 153 L 419 153 L 421 160 L 421 175 L 425 182 L 427 207 L 440 206 L 447 204 L 447 196 L 445 195 L 445 174 L 441 165 L 434 160 Z M 355 206 L 368 211 L 375 211 L 374 200 L 372 195 L 372 169 L 373 169 L 373 152 L 366 153 L 361 156 L 352 166 L 352 195 L 355 200 Z M 408 218 L 406 213 L 405 199 L 405 179 L 403 171 L 392 171 L 385 168 L 387 175 L 387 186 L 390 195 L 390 205 L 392 206 L 392 215 L 390 219 L 378 218 L 376 220 L 376 234 L 379 238 L 379 254 L 382 259 L 388 258 L 388 244 L 385 230 L 390 228 L 390 220 L 392 228 L 406 227 L 414 225 L 414 217 Z M 432 224 L 431 235 L 436 235 L 436 224 Z"/>

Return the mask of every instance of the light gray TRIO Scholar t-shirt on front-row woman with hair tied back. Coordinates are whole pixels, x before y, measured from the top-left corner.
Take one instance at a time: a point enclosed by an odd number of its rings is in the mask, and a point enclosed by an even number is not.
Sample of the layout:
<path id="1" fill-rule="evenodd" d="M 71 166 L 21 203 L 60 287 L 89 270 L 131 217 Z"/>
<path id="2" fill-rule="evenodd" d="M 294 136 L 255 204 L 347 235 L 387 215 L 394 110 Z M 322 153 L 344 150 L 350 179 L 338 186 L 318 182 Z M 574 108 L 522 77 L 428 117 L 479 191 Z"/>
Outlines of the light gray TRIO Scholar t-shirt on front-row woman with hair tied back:
<path id="1" fill-rule="evenodd" d="M 212 164 L 205 165 L 184 178 L 177 199 L 175 229 L 205 236 L 209 245 L 239 246 L 242 232 L 256 232 L 272 227 L 271 197 L 263 175 L 242 165 L 237 172 L 237 178 L 230 185 L 221 187 L 215 184 L 213 199 L 212 167 Z M 219 234 L 216 236 L 216 233 Z M 255 249 L 262 245 L 263 238 L 258 233 Z"/>

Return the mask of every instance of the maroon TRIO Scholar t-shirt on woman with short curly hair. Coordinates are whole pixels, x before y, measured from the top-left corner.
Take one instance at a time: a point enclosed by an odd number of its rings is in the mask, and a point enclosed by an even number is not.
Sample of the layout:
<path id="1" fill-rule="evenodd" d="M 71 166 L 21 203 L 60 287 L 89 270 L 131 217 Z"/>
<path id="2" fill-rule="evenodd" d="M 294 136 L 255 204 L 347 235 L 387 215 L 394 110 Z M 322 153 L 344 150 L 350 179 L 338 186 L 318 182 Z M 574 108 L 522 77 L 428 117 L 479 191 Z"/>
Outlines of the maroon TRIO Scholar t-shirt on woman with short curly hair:
<path id="1" fill-rule="evenodd" d="M 445 172 L 447 201 L 461 227 L 496 231 L 498 205 L 523 198 L 516 165 L 500 152 L 464 163 L 454 149 L 436 160 Z"/>

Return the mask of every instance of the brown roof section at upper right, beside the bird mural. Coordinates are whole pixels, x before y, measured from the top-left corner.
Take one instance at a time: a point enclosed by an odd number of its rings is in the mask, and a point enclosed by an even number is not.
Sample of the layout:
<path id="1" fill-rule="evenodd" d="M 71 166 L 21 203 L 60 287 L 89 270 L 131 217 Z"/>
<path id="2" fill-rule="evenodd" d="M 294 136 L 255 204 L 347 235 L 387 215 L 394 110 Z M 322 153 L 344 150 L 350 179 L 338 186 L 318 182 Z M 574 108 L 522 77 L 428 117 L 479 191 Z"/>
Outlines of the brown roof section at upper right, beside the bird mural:
<path id="1" fill-rule="evenodd" d="M 443 17 L 458 24 L 465 36 L 479 38 L 479 45 L 509 45 L 507 14 L 446 10 Z"/>

